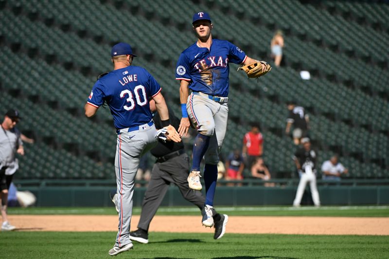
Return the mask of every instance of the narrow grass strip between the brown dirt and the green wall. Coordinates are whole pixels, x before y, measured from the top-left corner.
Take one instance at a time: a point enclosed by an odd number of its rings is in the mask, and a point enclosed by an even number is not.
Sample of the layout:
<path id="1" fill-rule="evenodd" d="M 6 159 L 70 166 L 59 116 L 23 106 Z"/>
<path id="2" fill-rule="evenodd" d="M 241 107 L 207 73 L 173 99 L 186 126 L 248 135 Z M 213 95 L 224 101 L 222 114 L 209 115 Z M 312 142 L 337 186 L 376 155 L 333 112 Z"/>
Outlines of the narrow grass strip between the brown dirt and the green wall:
<path id="1" fill-rule="evenodd" d="M 344 207 L 216 207 L 219 213 L 230 216 L 329 216 L 329 217 L 389 217 L 389 206 L 344 206 Z M 30 207 L 9 208 L 10 215 L 116 215 L 114 207 Z M 134 207 L 134 215 L 141 214 Z M 160 207 L 157 215 L 199 215 L 196 207 Z"/>

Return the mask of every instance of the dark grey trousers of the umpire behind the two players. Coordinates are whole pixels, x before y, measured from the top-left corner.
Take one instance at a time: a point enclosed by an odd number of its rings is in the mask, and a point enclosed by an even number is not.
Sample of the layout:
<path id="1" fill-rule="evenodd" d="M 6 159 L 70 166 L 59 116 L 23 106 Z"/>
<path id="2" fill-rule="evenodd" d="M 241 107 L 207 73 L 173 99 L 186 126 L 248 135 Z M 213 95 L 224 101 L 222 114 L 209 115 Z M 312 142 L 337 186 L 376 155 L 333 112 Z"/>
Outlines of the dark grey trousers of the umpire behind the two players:
<path id="1" fill-rule="evenodd" d="M 186 200 L 193 203 L 199 209 L 204 207 L 205 198 L 200 191 L 189 188 L 188 175 L 189 157 L 186 154 L 154 165 L 149 185 L 144 194 L 138 228 L 148 231 L 150 222 L 157 212 L 170 183 L 177 185 Z"/>

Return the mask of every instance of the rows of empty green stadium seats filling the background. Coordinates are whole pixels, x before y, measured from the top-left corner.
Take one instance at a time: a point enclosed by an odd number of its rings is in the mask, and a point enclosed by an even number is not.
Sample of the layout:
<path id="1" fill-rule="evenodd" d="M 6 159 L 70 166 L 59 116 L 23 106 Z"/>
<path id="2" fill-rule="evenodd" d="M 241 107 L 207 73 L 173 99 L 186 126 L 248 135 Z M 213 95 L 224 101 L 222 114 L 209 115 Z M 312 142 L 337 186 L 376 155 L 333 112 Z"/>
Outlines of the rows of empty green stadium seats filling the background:
<path id="1" fill-rule="evenodd" d="M 236 72 L 237 65 L 230 66 L 225 155 L 241 148 L 250 122 L 260 122 L 266 163 L 273 172 L 293 172 L 295 146 L 280 133 L 286 123 L 285 102 L 297 100 L 313 112 L 310 137 L 318 144 L 319 164 L 334 154 L 329 150 L 337 149 L 350 169 L 347 177 L 389 177 L 389 103 L 359 89 L 389 93 L 387 69 L 363 61 L 371 57 L 373 62 L 387 62 L 389 37 L 326 11 L 336 6 L 385 27 L 388 17 L 382 10 L 387 5 L 378 10 L 382 5 L 326 1 L 320 9 L 297 0 L 181 0 L 174 5 L 152 0 L 4 2 L 0 21 L 7 26 L 0 27 L 0 35 L 6 44 L 0 45 L 0 63 L 13 65 L 0 71 L 0 107 L 17 106 L 24 117 L 20 129 L 34 132 L 43 142 L 26 146 L 30 152 L 20 158 L 22 178 L 113 178 L 112 163 L 88 158 L 88 153 L 96 153 L 112 161 L 115 154 L 109 109 L 99 109 L 94 121 L 83 116 L 95 75 L 111 69 L 110 46 L 128 41 L 138 54 L 134 65 L 153 74 L 170 107 L 180 114 L 175 64 L 179 53 L 195 42 L 191 18 L 198 10 L 210 12 L 213 35 L 235 43 L 251 57 L 266 58 L 275 28 L 288 32 L 286 67 L 273 68 L 256 82 Z M 242 26 L 245 19 L 249 22 Z M 381 40 L 370 40 L 374 38 Z M 31 50 L 37 55 L 24 52 Z M 313 71 L 314 77 L 301 80 L 300 68 Z M 74 146 L 80 155 L 71 155 L 69 147 Z"/>

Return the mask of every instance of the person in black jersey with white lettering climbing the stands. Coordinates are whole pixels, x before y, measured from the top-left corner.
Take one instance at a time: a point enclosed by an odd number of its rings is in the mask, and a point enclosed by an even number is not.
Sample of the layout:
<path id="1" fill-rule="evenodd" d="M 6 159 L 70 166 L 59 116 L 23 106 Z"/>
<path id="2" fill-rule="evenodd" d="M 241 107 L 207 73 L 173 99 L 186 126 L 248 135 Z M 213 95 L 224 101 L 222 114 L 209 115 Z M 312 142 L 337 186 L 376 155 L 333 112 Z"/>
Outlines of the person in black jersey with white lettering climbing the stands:
<path id="1" fill-rule="evenodd" d="M 293 124 L 293 142 L 295 143 L 295 145 L 299 145 L 301 138 L 305 138 L 308 136 L 309 116 L 308 114 L 305 114 L 304 108 L 296 105 L 296 102 L 294 101 L 288 103 L 288 110 L 289 115 L 286 119 L 285 133 L 289 134 L 290 128 Z"/>

